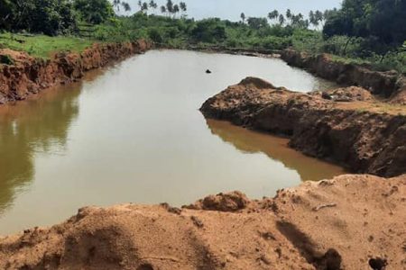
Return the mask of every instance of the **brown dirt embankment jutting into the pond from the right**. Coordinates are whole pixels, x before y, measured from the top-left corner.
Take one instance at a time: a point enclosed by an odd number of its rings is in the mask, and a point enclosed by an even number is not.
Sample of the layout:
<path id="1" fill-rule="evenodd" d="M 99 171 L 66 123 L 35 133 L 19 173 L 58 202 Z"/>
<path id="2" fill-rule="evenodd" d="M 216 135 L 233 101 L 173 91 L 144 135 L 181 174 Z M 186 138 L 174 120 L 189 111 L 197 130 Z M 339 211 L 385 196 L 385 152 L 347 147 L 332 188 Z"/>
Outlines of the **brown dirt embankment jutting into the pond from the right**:
<path id="1" fill-rule="evenodd" d="M 248 77 L 200 110 L 208 118 L 288 135 L 292 148 L 356 173 L 406 173 L 406 109 L 374 101 L 360 87 L 302 94 Z"/>

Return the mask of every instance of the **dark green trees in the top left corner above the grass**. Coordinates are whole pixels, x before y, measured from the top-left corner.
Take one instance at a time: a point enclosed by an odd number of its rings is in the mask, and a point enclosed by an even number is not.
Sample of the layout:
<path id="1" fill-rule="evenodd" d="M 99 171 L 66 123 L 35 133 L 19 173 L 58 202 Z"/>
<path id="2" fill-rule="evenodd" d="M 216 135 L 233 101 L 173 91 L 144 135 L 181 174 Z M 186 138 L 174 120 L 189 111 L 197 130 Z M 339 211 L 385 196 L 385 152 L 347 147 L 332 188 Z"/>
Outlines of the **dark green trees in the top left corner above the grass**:
<path id="1" fill-rule="evenodd" d="M 0 30 L 65 34 L 80 22 L 105 23 L 120 7 L 131 9 L 122 0 L 0 0 Z"/>

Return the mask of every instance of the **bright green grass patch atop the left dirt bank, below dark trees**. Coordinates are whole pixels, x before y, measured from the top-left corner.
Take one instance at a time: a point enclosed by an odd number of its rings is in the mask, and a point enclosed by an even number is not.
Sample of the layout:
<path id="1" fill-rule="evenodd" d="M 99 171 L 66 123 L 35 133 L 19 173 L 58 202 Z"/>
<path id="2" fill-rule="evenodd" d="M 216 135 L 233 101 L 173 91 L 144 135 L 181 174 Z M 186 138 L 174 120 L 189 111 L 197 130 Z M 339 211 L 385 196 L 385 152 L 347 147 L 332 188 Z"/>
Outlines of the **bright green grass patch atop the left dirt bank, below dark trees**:
<path id="1" fill-rule="evenodd" d="M 0 48 L 26 51 L 33 57 L 51 58 L 60 51 L 80 52 L 91 46 L 95 40 L 76 37 L 0 33 Z"/>

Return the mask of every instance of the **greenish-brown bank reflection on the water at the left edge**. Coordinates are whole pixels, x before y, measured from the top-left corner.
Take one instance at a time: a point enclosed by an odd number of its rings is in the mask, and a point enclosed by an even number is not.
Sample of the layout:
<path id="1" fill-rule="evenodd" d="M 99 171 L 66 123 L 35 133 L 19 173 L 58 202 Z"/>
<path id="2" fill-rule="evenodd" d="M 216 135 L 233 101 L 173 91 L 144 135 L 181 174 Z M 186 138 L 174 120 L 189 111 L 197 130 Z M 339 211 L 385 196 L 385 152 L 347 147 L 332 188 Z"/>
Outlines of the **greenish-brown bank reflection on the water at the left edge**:
<path id="1" fill-rule="evenodd" d="M 85 81 L 99 74 L 90 72 Z M 36 154 L 63 154 L 69 127 L 78 117 L 82 84 L 49 89 L 18 105 L 0 107 L 0 214 L 29 188 Z"/>

